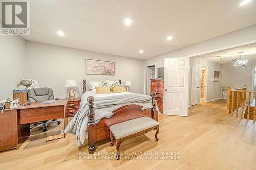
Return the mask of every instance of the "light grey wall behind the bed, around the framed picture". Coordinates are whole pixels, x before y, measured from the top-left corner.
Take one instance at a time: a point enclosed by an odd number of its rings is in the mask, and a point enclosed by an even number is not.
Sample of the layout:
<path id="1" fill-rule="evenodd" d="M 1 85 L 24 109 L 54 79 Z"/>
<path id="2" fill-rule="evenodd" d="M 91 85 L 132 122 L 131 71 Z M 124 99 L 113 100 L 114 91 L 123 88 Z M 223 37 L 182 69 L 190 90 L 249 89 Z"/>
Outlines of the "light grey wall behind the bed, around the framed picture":
<path id="1" fill-rule="evenodd" d="M 86 75 L 86 59 L 115 62 L 115 76 Z M 67 79 L 74 79 L 78 83 L 76 96 L 81 95 L 83 79 L 88 82 L 131 80 L 131 92 L 143 93 L 143 71 L 143 60 L 26 41 L 26 78 L 37 78 L 40 87 L 51 87 L 55 98 L 68 97 L 64 87 Z"/>

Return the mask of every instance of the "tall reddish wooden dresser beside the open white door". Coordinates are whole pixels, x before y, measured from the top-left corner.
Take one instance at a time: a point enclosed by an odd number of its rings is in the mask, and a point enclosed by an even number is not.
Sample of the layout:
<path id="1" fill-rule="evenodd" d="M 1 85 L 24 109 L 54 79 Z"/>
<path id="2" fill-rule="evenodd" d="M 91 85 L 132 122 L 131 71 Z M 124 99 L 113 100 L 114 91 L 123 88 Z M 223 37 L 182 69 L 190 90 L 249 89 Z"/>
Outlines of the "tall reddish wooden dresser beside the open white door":
<path id="1" fill-rule="evenodd" d="M 163 113 L 163 79 L 151 79 L 150 91 L 156 91 L 157 105 L 160 112 Z"/>

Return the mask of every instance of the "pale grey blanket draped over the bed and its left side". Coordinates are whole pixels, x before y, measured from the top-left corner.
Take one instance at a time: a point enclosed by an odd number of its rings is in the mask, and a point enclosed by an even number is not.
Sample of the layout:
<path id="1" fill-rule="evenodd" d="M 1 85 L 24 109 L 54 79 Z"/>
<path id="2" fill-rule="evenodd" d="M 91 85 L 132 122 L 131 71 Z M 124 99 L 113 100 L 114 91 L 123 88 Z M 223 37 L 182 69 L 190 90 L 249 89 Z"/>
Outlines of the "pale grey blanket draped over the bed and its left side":
<path id="1" fill-rule="evenodd" d="M 84 141 L 87 139 L 87 123 L 88 117 L 87 113 L 89 110 L 88 102 L 85 102 L 85 99 L 88 96 L 94 96 L 93 109 L 95 113 L 95 123 L 97 124 L 101 118 L 112 117 L 112 111 L 129 104 L 137 104 L 142 106 L 142 109 L 151 109 L 152 108 L 152 98 L 149 95 L 138 94 L 138 93 L 130 93 L 123 92 L 109 95 L 97 95 L 92 92 L 86 92 L 82 96 L 82 105 L 80 109 L 77 111 L 76 115 L 73 117 L 67 128 L 65 129 L 65 133 L 76 134 L 77 144 L 83 145 Z M 157 108 L 158 110 L 158 108 Z M 158 110 L 159 112 L 159 110 Z"/>

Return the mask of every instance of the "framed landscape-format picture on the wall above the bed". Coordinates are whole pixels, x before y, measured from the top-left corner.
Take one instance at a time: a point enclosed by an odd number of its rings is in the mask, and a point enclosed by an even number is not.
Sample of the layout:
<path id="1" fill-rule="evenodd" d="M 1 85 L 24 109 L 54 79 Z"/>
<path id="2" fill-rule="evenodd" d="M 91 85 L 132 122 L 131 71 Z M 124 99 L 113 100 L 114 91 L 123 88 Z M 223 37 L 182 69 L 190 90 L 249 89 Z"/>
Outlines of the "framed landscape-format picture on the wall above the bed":
<path id="1" fill-rule="evenodd" d="M 86 59 L 87 75 L 115 75 L 115 63 L 110 61 Z"/>

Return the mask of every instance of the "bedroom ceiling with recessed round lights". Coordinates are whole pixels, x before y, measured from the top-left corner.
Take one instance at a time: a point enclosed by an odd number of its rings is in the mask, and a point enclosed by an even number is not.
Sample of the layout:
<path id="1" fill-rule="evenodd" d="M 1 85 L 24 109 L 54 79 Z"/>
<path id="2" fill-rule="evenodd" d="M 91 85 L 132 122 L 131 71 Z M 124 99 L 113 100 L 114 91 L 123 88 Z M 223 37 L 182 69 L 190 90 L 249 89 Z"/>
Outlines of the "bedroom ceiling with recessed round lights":
<path id="1" fill-rule="evenodd" d="M 33 0 L 26 40 L 147 59 L 256 23 L 256 1 Z M 124 18 L 132 19 L 131 26 Z M 65 33 L 60 37 L 58 30 Z M 173 40 L 167 41 L 168 35 Z M 140 54 L 139 50 L 144 53 Z"/>

